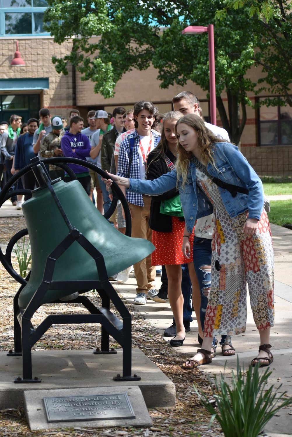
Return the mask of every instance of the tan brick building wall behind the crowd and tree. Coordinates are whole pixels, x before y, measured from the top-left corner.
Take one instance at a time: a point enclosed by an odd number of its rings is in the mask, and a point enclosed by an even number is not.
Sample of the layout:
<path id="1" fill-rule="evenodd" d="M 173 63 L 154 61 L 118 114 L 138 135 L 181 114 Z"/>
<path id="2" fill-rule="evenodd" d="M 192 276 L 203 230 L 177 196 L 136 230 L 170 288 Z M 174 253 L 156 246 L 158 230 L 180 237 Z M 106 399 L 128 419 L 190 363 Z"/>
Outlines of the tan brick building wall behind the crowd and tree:
<path id="1" fill-rule="evenodd" d="M 18 38 L 19 50 L 25 60 L 25 66 L 11 66 L 14 57 L 16 38 L 1 38 L 0 79 L 49 78 L 49 88 L 34 90 L 40 96 L 40 106 L 49 107 L 52 115 L 69 118 L 72 108 L 78 108 L 86 123 L 87 111 L 90 109 L 105 109 L 112 112 L 116 106 L 123 105 L 132 108 L 139 100 L 150 100 L 158 106 L 161 113 L 172 110 L 172 97 L 183 90 L 190 90 L 201 101 L 203 115 L 208 116 L 208 101 L 206 92 L 192 82 L 185 87 L 174 85 L 166 90 L 159 87 L 157 70 L 152 66 L 145 71 L 133 70 L 123 75 L 116 85 L 113 98 L 105 99 L 94 93 L 94 83 L 83 82 L 80 74 L 75 73 L 72 66 L 68 66 L 68 75 L 56 73 L 51 59 L 69 53 L 72 41 L 67 40 L 62 45 L 55 44 L 53 38 Z M 250 70 L 249 76 L 255 80 L 258 69 Z M 27 91 L 32 92 L 32 91 Z M 25 94 L 23 91 L 11 91 L 11 94 Z M 9 90 L 0 91 L 9 94 Z M 222 96 L 227 107 L 226 96 Z M 252 94 L 249 97 L 254 102 Z M 257 111 L 246 107 L 247 121 L 241 137 L 241 150 L 257 173 L 261 175 L 292 175 L 292 146 L 258 146 Z M 217 124 L 221 121 L 217 111 Z"/>

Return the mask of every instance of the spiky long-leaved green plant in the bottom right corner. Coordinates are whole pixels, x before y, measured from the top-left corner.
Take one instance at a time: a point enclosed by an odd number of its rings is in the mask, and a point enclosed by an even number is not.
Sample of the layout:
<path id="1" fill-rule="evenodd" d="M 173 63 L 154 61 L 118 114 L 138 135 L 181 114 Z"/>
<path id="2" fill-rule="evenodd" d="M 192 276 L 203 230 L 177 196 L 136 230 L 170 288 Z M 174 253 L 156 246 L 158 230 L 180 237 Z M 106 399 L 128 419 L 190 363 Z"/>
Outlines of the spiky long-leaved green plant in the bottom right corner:
<path id="1" fill-rule="evenodd" d="M 246 375 L 239 366 L 237 358 L 236 374 L 232 371 L 232 382 L 229 387 L 224 374 L 215 376 L 215 388 L 212 388 L 216 401 L 210 402 L 208 396 L 194 390 L 204 407 L 211 413 L 211 423 L 218 420 L 225 437 L 257 437 L 265 424 L 281 409 L 292 402 L 286 392 L 280 393 L 274 385 L 267 387 L 271 371 L 266 369 L 260 375 L 259 364 L 250 365 Z"/>

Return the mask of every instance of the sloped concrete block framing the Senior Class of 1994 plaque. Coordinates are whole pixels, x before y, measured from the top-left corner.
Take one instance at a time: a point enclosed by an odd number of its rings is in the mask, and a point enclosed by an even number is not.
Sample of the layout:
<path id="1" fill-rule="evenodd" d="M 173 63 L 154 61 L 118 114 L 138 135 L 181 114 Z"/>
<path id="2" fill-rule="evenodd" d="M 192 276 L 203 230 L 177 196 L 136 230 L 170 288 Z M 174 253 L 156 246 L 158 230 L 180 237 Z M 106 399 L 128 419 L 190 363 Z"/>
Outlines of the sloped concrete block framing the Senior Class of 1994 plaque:
<path id="1" fill-rule="evenodd" d="M 101 420 L 76 420 L 76 421 L 61 421 L 48 422 L 46 411 L 43 403 L 45 397 L 72 397 L 82 395 L 101 396 L 106 394 L 127 393 L 130 404 L 134 410 L 135 417 L 131 419 L 111 419 L 106 420 L 106 416 Z M 85 407 L 96 409 L 96 407 Z M 64 429 L 68 427 L 82 428 L 104 428 L 104 427 L 137 427 L 151 426 L 152 420 L 149 416 L 143 395 L 139 387 L 124 385 L 123 387 L 94 387 L 94 388 L 74 388 L 65 390 L 28 390 L 24 392 L 24 410 L 28 425 L 32 431 L 36 430 L 53 430 Z M 109 413 L 109 410 L 104 410 L 103 413 Z"/>

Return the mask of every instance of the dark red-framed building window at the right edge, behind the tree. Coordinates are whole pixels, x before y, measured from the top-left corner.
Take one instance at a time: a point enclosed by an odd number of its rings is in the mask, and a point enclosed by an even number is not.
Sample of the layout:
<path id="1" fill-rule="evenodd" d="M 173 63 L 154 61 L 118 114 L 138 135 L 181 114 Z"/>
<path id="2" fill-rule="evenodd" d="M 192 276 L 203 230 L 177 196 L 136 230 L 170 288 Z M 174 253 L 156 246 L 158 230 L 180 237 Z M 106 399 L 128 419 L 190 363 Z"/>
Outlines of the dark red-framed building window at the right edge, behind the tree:
<path id="1" fill-rule="evenodd" d="M 263 101 L 260 98 L 259 101 Z M 286 106 L 260 106 L 259 145 L 292 144 L 292 108 Z"/>

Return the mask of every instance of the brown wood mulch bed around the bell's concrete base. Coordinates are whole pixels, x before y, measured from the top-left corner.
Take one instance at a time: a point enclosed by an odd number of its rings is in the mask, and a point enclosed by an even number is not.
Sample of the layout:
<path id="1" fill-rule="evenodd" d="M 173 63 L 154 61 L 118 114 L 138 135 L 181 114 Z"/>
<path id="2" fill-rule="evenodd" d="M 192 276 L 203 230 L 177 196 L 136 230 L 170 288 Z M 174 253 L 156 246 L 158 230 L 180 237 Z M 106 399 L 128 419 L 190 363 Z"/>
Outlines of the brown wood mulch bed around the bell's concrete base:
<path id="1" fill-rule="evenodd" d="M 5 245 L 11 236 L 20 229 L 24 229 L 23 217 L 1 218 L 0 243 Z M 14 259 L 16 261 L 16 259 Z M 17 263 L 13 262 L 15 270 Z M 18 289 L 18 283 L 8 275 L 0 265 L 0 311 L 4 315 L 0 319 L 1 342 L 0 350 L 5 353 L 13 349 L 13 312 L 12 301 Z M 90 292 L 90 299 L 99 306 L 99 295 Z M 208 379 L 199 370 L 185 371 L 181 368 L 182 358 L 168 346 L 156 329 L 141 316 L 134 305 L 124 300 L 132 316 L 133 347 L 140 348 L 176 386 L 176 406 L 171 408 L 150 409 L 149 414 L 153 421 L 152 427 L 131 428 L 114 427 L 104 429 L 83 429 L 82 422 L 78 428 L 66 428 L 64 431 L 30 431 L 26 423 L 23 408 L 0 411 L 0 436 L 195 436 L 195 437 L 222 437 L 220 427 L 213 423 L 209 428 L 209 413 L 199 404 L 193 385 L 210 396 L 211 386 Z M 81 305 L 67 304 L 67 313 L 84 311 Z M 32 319 L 37 325 L 46 315 L 63 312 L 64 306 L 58 304 L 42 305 Z M 66 325 L 55 325 L 35 344 L 34 350 L 48 349 L 93 349 L 99 346 L 100 326 L 93 324 L 75 325 L 74 330 Z M 117 347 L 114 340 L 112 347 Z"/>

